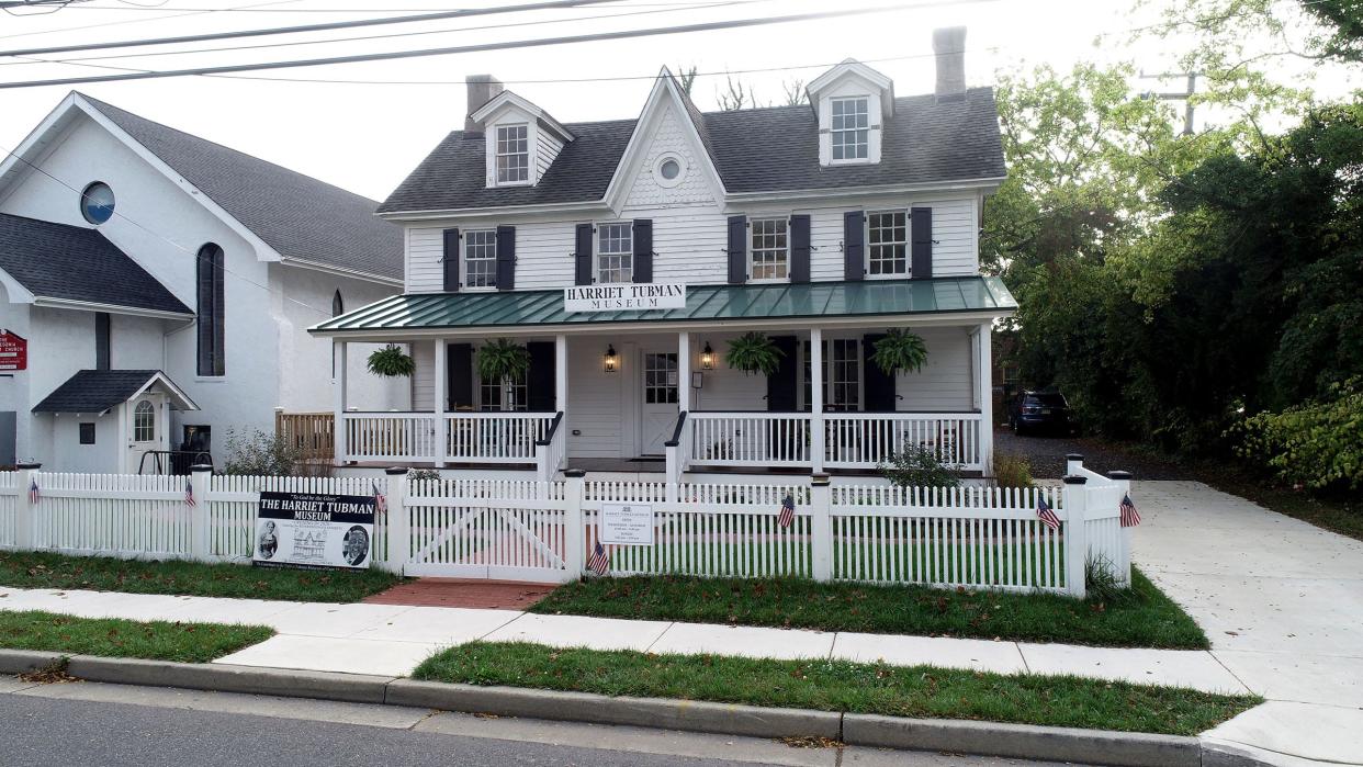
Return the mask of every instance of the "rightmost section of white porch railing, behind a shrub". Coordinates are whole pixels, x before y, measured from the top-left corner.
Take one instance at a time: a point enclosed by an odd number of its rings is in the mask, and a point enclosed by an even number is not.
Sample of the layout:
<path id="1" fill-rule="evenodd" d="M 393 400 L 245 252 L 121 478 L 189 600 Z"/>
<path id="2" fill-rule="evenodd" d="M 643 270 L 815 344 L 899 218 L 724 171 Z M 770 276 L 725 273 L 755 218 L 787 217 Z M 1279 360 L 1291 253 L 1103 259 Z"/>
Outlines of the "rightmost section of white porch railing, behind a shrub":
<path id="1" fill-rule="evenodd" d="M 875 467 L 910 447 L 925 447 L 968 471 L 984 469 L 979 413 L 825 413 L 829 469 Z"/>

